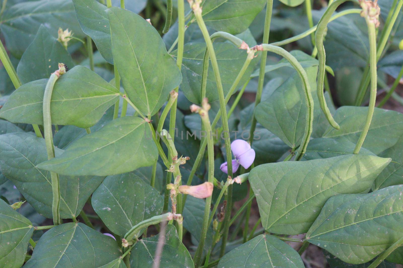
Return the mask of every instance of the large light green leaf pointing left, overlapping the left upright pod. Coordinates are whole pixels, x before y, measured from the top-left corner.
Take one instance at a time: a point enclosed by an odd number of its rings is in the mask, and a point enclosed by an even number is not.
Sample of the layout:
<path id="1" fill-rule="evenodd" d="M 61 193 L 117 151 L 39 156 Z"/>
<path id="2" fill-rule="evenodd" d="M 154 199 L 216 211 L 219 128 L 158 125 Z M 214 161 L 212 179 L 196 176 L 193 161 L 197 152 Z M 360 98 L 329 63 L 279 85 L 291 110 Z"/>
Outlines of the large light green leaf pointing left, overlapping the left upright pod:
<path id="1" fill-rule="evenodd" d="M 107 176 L 151 166 L 157 158 L 147 123 L 123 117 L 71 143 L 60 156 L 38 167 L 65 175 Z"/>

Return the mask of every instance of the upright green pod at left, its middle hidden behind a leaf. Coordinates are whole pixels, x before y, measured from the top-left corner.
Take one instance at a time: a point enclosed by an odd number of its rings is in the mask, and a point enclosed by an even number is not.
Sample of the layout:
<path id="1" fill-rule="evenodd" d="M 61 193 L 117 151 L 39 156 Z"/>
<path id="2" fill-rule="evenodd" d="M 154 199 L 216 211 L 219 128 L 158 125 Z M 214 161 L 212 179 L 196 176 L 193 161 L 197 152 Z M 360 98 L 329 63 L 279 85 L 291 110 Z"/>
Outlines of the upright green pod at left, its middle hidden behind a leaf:
<path id="1" fill-rule="evenodd" d="M 52 134 L 52 119 L 50 113 L 50 100 L 52 98 L 53 87 L 59 76 L 55 73 L 50 75 L 48 83 L 45 87 L 44 101 L 43 101 L 43 115 L 44 115 L 44 135 L 46 152 L 48 154 L 48 160 L 54 158 L 54 146 L 53 146 L 53 134 Z M 53 214 L 53 224 L 61 224 L 60 221 L 60 184 L 59 175 L 55 172 L 50 172 L 50 178 L 52 180 L 52 214 Z"/>

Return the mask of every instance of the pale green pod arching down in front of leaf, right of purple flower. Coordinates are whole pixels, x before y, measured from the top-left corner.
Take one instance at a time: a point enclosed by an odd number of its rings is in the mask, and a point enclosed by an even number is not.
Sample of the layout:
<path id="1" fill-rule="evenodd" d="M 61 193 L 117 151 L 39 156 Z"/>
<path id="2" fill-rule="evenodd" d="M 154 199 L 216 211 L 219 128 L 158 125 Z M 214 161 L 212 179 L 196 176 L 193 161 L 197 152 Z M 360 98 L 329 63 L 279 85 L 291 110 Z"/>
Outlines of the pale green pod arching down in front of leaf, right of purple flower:
<path id="1" fill-rule="evenodd" d="M 297 156 L 295 157 L 295 160 L 299 161 L 303 154 L 306 151 L 306 147 L 308 146 L 311 134 L 312 134 L 312 125 L 313 125 L 313 120 L 314 120 L 314 100 L 312 98 L 311 94 L 311 88 L 310 84 L 308 81 L 308 76 L 305 72 L 305 70 L 302 68 L 301 64 L 295 59 L 293 55 L 291 55 L 288 51 L 281 47 L 276 47 L 273 45 L 267 45 L 263 44 L 262 45 L 263 50 L 267 50 L 273 53 L 276 53 L 285 59 L 289 61 L 289 63 L 295 68 L 295 70 L 298 72 L 299 76 L 301 77 L 301 80 L 303 82 L 304 86 L 304 91 L 305 91 L 305 105 L 307 106 L 306 109 L 306 123 L 305 123 L 305 133 L 302 137 L 302 142 L 301 145 L 299 146 L 299 150 L 297 153 Z"/>

